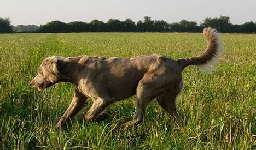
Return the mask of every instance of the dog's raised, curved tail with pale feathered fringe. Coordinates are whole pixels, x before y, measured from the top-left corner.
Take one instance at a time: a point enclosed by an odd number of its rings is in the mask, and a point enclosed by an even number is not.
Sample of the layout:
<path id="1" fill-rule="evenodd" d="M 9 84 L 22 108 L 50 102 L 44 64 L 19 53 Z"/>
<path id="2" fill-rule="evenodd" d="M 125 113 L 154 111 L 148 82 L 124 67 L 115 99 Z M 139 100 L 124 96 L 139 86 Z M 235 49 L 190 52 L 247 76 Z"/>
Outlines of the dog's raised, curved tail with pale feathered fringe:
<path id="1" fill-rule="evenodd" d="M 205 28 L 203 29 L 203 35 L 205 35 L 208 43 L 205 52 L 197 57 L 178 59 L 177 62 L 182 70 L 189 65 L 197 65 L 202 71 L 210 73 L 218 62 L 223 52 L 223 44 L 220 41 L 219 33 L 216 29 Z"/>

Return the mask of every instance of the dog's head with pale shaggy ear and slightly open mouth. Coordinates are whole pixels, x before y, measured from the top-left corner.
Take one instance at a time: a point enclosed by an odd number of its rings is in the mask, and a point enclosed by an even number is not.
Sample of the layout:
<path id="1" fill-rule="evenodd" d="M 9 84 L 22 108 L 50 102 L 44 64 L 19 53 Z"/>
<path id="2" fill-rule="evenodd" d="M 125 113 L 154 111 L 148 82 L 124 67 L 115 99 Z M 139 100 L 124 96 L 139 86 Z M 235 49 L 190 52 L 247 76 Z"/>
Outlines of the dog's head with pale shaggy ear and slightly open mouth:
<path id="1" fill-rule="evenodd" d="M 57 83 L 59 80 L 57 63 L 60 59 L 62 58 L 56 56 L 45 58 L 38 69 L 37 76 L 31 80 L 31 86 L 43 91 L 45 88 Z"/>

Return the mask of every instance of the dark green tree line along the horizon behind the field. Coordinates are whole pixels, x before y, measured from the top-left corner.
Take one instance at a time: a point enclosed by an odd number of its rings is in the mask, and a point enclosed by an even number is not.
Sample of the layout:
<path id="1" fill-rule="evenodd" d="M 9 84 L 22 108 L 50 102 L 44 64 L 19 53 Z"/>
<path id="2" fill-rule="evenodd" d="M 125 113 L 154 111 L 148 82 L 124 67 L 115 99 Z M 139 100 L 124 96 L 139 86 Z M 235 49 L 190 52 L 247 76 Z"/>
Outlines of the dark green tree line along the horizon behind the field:
<path id="1" fill-rule="evenodd" d="M 22 29 L 26 27 L 20 26 Z M 167 23 L 164 20 L 152 20 L 144 16 L 143 20 L 134 22 L 131 19 L 120 21 L 119 19 L 109 19 L 106 23 L 100 20 L 91 22 L 73 21 L 61 22 L 51 21 L 39 28 L 34 27 L 30 32 L 37 33 L 59 33 L 59 32 L 202 32 L 205 27 L 216 28 L 223 33 L 256 33 L 256 22 L 249 21 L 241 25 L 230 23 L 229 16 L 207 17 L 200 25 L 195 21 L 181 20 L 179 22 Z M 17 29 L 18 27 L 16 27 Z M 11 27 L 10 20 L 0 18 L 1 32 L 17 32 L 15 27 Z M 25 30 L 23 32 L 26 32 Z"/>

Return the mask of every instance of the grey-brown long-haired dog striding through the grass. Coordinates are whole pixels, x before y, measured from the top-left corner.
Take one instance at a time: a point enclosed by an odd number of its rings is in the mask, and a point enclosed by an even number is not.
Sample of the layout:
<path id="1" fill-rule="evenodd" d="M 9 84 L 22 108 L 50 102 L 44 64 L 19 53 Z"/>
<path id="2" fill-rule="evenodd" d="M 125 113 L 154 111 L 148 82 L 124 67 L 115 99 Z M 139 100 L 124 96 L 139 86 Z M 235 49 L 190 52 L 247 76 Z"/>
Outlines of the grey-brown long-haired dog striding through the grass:
<path id="1" fill-rule="evenodd" d="M 38 74 L 30 82 L 39 91 L 58 82 L 69 82 L 74 86 L 74 97 L 67 111 L 56 124 L 66 123 L 86 106 L 88 98 L 93 100 L 85 121 L 101 117 L 110 104 L 136 94 L 134 118 L 121 125 L 139 124 L 146 115 L 146 107 L 152 99 L 170 115 L 182 122 L 177 110 L 177 96 L 183 89 L 182 71 L 196 65 L 206 72 L 211 71 L 223 52 L 219 33 L 212 28 L 203 29 L 207 39 L 205 52 L 197 57 L 173 60 L 162 55 L 143 55 L 131 58 L 118 57 L 57 57 L 44 59 Z"/>

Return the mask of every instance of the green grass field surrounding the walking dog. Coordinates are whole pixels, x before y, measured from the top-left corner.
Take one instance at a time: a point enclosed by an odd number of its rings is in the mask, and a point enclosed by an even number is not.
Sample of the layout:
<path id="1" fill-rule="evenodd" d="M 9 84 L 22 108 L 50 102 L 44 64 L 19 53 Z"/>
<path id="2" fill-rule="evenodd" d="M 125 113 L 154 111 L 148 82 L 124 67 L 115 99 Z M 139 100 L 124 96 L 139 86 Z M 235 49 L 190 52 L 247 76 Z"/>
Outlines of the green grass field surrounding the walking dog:
<path id="1" fill-rule="evenodd" d="M 131 97 L 108 107 L 104 121 L 84 122 L 80 113 L 59 130 L 54 125 L 73 87 L 59 83 L 43 92 L 30 87 L 45 57 L 158 53 L 178 59 L 205 50 L 202 33 L 0 34 L 0 149 L 255 149 L 256 35 L 223 34 L 222 40 L 225 53 L 212 74 L 196 67 L 183 71 L 178 108 L 187 124 L 178 124 L 154 102 L 143 124 L 113 129 L 132 119 Z"/>

